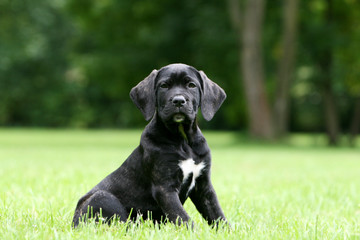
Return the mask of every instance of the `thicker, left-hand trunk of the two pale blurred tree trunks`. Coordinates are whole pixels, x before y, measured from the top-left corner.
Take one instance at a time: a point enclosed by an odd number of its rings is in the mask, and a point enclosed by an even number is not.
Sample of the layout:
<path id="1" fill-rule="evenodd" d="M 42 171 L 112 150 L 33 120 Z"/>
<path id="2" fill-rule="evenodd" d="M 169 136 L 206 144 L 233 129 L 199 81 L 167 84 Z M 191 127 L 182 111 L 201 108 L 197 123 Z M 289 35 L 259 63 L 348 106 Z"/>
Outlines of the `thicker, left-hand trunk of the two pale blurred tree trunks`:
<path id="1" fill-rule="evenodd" d="M 262 26 L 265 0 L 247 0 L 242 32 L 241 68 L 249 111 L 250 133 L 259 139 L 272 139 L 274 129 L 264 86 Z"/>

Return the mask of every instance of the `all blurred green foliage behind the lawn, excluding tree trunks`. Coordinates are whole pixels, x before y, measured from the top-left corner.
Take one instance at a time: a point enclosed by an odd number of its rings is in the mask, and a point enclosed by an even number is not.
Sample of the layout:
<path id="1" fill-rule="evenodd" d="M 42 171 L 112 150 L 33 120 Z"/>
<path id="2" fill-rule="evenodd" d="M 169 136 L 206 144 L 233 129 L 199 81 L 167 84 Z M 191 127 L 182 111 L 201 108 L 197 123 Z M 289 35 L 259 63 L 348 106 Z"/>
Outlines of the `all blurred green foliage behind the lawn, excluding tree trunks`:
<path id="1" fill-rule="evenodd" d="M 291 130 L 323 128 L 319 64 L 327 49 L 345 127 L 360 92 L 359 3 L 332 0 L 328 25 L 326 0 L 300 2 Z M 281 21 L 282 5 L 268 1 L 263 48 L 272 98 Z M 204 70 L 228 95 L 214 120 L 201 125 L 246 128 L 238 36 L 223 1 L 2 0 L 0 36 L 0 125 L 143 126 L 130 89 L 152 69 L 184 62 Z"/>

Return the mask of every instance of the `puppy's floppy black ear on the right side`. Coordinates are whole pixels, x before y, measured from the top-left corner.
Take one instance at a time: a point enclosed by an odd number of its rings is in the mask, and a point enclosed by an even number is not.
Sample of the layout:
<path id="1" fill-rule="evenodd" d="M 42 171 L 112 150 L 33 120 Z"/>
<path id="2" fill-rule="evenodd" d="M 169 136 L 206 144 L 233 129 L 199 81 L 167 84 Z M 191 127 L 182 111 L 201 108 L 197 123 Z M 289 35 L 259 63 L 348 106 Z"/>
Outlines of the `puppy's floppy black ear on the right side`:
<path id="1" fill-rule="evenodd" d="M 201 113 L 206 121 L 210 121 L 226 98 L 225 91 L 211 81 L 203 71 L 199 71 L 203 82 L 201 96 Z"/>

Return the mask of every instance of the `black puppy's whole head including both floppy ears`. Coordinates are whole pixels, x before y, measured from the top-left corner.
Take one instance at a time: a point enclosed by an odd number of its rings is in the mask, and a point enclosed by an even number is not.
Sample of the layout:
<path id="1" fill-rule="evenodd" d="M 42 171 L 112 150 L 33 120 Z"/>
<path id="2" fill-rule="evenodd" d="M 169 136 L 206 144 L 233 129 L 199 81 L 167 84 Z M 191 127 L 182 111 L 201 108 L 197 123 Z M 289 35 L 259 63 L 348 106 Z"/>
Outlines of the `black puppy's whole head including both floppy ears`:
<path id="1" fill-rule="evenodd" d="M 170 64 L 153 70 L 131 89 L 130 97 L 147 121 L 157 111 L 164 122 L 189 123 L 199 108 L 205 120 L 210 121 L 226 94 L 203 71 L 185 64 Z"/>

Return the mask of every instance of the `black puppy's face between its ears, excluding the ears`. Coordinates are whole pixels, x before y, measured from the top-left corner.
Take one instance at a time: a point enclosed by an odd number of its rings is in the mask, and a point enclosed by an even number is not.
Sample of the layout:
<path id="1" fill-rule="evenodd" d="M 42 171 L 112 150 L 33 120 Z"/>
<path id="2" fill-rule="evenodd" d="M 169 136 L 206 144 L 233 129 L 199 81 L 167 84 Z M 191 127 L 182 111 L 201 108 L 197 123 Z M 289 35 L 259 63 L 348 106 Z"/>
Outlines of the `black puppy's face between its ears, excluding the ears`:
<path id="1" fill-rule="evenodd" d="M 161 69 L 155 81 L 159 117 L 166 123 L 191 123 L 200 106 L 199 72 L 186 65 Z"/>

